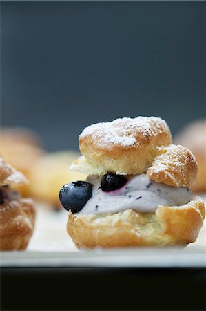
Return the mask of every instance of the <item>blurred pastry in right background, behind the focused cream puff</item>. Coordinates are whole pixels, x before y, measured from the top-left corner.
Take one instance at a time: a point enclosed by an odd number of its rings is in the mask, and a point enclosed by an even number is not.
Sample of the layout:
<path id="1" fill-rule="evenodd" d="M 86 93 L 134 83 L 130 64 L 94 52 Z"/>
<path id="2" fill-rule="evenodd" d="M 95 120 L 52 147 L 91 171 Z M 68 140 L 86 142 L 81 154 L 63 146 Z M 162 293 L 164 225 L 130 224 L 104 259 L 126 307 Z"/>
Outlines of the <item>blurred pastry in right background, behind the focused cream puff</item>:
<path id="1" fill-rule="evenodd" d="M 193 190 L 206 192 L 206 119 L 185 126 L 174 139 L 176 144 L 189 148 L 198 162 L 198 178 Z"/>

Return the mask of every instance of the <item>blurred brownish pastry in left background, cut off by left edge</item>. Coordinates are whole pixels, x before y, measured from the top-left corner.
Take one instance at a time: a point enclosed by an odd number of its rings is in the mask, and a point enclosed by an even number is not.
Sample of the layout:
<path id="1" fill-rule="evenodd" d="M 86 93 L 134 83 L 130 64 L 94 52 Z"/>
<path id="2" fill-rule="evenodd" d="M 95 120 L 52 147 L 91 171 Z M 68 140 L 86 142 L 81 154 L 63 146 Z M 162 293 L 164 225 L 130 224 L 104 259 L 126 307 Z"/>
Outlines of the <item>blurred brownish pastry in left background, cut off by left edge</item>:
<path id="1" fill-rule="evenodd" d="M 40 138 L 29 129 L 17 127 L 1 129 L 0 139 L 1 156 L 29 178 L 32 165 L 45 153 Z M 28 196 L 29 184 L 21 185 L 18 189 L 22 196 Z"/>

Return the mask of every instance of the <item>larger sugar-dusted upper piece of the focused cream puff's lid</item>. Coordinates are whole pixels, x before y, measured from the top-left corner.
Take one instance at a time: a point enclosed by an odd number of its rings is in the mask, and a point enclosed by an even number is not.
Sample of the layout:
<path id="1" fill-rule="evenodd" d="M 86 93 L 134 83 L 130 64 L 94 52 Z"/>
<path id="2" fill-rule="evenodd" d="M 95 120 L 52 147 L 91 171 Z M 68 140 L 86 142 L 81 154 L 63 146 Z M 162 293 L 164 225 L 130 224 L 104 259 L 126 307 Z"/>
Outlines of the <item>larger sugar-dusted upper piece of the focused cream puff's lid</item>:
<path id="1" fill-rule="evenodd" d="M 72 169 L 97 175 L 143 173 L 152 165 L 158 147 L 171 143 L 169 127 L 159 117 L 124 117 L 92 124 L 79 136 L 84 158 L 76 160 Z"/>

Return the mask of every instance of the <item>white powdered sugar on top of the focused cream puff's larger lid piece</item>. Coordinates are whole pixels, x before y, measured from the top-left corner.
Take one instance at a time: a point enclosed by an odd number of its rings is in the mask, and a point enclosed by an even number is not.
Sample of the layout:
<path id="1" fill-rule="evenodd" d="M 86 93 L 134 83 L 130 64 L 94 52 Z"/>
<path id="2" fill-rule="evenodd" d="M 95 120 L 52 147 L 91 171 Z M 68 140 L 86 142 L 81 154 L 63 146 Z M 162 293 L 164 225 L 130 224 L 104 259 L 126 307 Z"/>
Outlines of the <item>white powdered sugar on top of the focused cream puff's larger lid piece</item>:
<path id="1" fill-rule="evenodd" d="M 156 127 L 160 128 L 163 121 L 160 117 L 123 117 L 112 122 L 101 122 L 87 126 L 79 138 L 92 136 L 92 139 L 99 140 L 99 144 L 121 144 L 124 147 L 132 146 L 136 141 L 136 129 L 141 135 L 152 136 L 151 120 Z M 166 126 L 166 122 L 164 124 Z"/>

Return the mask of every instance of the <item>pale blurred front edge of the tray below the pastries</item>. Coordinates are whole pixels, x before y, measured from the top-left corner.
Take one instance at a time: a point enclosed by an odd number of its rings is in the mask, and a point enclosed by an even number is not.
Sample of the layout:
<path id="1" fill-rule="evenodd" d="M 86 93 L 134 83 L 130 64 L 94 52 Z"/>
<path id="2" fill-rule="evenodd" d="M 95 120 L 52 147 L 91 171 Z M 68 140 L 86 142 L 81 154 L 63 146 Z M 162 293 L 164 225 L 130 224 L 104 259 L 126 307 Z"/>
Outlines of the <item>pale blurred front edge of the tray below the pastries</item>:
<path id="1" fill-rule="evenodd" d="M 206 252 L 200 247 L 3 252 L 1 267 L 206 267 Z"/>

